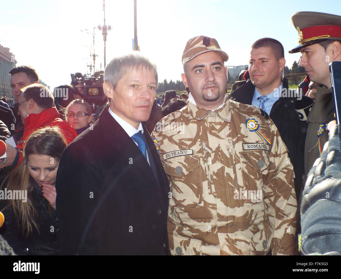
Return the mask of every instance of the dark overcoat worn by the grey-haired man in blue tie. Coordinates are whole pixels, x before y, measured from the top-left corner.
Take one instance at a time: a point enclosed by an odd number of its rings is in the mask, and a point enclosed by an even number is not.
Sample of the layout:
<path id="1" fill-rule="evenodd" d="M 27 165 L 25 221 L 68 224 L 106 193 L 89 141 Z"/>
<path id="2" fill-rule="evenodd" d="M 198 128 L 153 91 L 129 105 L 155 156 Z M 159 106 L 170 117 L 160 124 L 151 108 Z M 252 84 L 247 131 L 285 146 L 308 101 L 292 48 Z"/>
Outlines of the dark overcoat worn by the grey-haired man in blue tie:
<path id="1" fill-rule="evenodd" d="M 143 135 L 152 167 L 107 106 L 66 147 L 56 182 L 62 254 L 169 254 L 169 184 Z"/>

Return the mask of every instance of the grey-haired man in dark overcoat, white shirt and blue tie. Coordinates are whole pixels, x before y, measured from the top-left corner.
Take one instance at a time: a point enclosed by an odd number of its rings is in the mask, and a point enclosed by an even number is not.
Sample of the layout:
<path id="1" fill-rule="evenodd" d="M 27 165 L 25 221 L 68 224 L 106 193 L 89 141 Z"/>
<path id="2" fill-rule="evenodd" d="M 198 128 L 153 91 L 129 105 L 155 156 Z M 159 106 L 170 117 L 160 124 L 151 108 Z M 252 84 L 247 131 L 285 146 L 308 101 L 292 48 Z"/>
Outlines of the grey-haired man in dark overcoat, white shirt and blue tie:
<path id="1" fill-rule="evenodd" d="M 109 104 L 59 163 L 62 254 L 169 254 L 169 184 L 141 123 L 149 119 L 157 84 L 156 67 L 144 57 L 126 55 L 106 66 Z"/>

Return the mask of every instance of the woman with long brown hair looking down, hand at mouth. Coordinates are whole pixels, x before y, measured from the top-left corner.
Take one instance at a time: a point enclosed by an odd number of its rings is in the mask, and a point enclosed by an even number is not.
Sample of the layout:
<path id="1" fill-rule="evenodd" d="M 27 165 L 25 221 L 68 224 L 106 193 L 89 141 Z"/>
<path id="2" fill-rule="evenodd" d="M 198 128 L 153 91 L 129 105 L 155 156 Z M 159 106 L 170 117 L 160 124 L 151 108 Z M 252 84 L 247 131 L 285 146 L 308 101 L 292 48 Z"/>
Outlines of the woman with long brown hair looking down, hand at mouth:
<path id="1" fill-rule="evenodd" d="M 59 254 L 55 182 L 66 145 L 56 127 L 34 131 L 26 141 L 23 163 L 1 185 L 12 199 L 1 210 L 5 223 L 0 234 L 18 255 Z"/>

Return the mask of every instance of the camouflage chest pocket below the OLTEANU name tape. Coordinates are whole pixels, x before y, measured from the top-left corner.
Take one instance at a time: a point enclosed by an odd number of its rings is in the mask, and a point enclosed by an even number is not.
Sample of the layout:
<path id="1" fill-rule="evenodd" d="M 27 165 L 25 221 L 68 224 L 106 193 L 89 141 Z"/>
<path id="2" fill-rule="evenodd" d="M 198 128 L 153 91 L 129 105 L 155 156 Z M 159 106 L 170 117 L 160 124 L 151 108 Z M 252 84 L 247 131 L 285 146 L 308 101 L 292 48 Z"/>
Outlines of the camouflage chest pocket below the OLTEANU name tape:
<path id="1" fill-rule="evenodd" d="M 171 177 L 172 197 L 169 205 L 196 207 L 203 202 L 202 168 L 199 156 L 179 156 L 168 159 L 165 172 Z"/>

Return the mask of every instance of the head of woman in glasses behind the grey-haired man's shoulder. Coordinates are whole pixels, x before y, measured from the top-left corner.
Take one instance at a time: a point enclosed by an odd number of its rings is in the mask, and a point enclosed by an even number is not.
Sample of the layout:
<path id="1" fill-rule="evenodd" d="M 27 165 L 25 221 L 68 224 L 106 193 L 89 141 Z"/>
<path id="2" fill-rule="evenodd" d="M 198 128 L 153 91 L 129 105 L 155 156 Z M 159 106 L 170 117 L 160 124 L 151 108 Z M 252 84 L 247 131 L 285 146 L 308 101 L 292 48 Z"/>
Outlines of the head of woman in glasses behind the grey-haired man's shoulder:
<path id="1" fill-rule="evenodd" d="M 65 108 L 65 119 L 79 135 L 93 124 L 90 105 L 85 100 L 73 100 Z"/>

